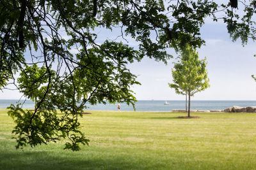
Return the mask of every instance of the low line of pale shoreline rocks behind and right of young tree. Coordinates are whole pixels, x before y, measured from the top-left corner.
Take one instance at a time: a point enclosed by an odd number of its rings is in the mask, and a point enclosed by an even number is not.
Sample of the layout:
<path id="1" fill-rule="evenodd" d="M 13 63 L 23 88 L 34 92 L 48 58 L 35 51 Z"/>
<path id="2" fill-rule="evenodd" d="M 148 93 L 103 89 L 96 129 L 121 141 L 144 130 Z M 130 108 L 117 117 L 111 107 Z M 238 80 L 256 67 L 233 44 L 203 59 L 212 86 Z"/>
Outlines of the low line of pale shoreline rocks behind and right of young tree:
<path id="1" fill-rule="evenodd" d="M 172 112 L 186 112 L 186 110 L 172 110 Z M 225 110 L 190 110 L 190 112 L 256 113 L 256 106 L 248 106 L 248 107 L 233 106 L 232 108 L 227 108 Z"/>

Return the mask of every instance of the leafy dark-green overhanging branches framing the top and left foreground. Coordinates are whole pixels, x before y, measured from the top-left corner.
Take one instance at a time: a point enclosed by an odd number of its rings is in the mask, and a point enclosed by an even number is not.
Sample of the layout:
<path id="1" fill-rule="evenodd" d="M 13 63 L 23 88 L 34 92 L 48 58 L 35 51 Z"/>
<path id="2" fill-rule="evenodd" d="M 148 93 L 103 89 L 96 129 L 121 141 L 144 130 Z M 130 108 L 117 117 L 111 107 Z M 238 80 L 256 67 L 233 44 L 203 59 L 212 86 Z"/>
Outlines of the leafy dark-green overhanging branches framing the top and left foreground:
<path id="1" fill-rule="evenodd" d="M 17 148 L 66 137 L 65 148 L 88 144 L 78 122 L 86 103 L 134 104 L 131 86 L 139 82 L 127 64 L 145 56 L 167 62 L 166 48 L 200 47 L 200 27 L 206 17 L 218 20 L 220 8 L 227 11 L 224 21 L 231 36 L 246 42 L 254 30 L 248 19 L 255 1 L 246 6 L 250 13 L 241 20 L 244 25 L 234 20 L 229 1 L 221 6 L 202 0 L 0 1 L 0 90 L 13 84 L 36 100 L 33 111 L 10 106 Z M 117 29 L 120 34 L 113 40 L 98 35 Z"/>

